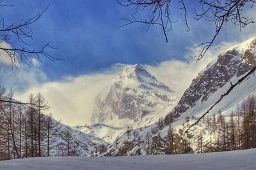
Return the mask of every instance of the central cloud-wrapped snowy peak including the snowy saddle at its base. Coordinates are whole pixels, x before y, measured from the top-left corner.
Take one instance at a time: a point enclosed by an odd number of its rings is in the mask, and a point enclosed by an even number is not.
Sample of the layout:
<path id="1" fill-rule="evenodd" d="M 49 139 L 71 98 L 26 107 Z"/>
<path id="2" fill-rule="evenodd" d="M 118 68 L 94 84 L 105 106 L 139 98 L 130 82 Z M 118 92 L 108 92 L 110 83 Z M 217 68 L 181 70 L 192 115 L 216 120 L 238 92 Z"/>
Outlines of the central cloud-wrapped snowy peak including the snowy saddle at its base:
<path id="1" fill-rule="evenodd" d="M 155 124 L 172 110 L 178 99 L 173 90 L 140 64 L 128 65 L 96 97 L 93 124 L 74 129 L 113 143 L 127 128 Z"/>

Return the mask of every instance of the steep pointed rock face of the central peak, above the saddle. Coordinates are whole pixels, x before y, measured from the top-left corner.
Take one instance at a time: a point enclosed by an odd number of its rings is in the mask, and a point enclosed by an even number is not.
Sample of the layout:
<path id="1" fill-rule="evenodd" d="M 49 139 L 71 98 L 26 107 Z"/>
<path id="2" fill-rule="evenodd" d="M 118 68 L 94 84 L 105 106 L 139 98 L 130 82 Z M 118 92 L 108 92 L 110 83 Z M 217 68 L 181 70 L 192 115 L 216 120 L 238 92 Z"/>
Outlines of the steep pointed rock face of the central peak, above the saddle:
<path id="1" fill-rule="evenodd" d="M 118 117 L 140 122 L 154 111 L 172 106 L 177 97 L 168 94 L 174 92 L 140 64 L 125 66 L 96 97 L 93 121 L 106 122 Z"/>

